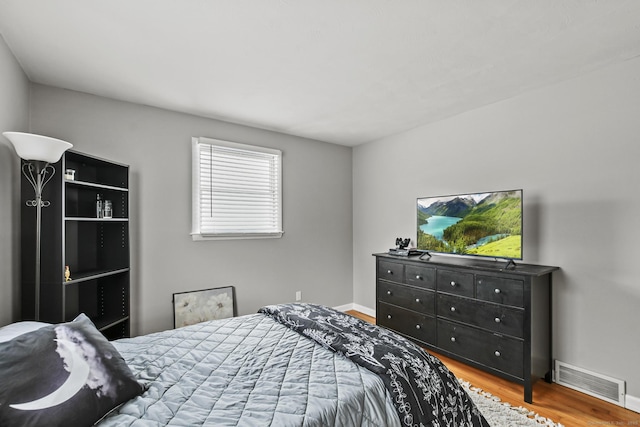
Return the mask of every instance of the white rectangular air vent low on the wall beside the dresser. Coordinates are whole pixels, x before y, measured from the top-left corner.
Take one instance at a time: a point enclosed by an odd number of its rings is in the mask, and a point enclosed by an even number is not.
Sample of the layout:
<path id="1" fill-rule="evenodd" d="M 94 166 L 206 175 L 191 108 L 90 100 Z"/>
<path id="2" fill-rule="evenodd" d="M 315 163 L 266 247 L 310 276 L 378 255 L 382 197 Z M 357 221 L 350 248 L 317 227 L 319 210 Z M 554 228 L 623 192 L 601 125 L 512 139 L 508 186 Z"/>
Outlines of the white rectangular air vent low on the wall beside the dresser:
<path id="1" fill-rule="evenodd" d="M 556 360 L 555 382 L 624 407 L 624 381 Z"/>

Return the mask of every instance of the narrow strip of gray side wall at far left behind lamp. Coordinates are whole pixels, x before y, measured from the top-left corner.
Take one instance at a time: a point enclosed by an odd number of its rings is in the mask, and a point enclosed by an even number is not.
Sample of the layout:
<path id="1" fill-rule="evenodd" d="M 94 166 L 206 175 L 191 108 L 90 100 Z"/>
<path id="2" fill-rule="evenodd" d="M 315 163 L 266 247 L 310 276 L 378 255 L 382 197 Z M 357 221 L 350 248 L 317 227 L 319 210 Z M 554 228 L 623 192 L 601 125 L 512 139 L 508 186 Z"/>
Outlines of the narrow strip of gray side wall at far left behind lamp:
<path id="1" fill-rule="evenodd" d="M 28 124 L 29 82 L 0 36 L 0 326 L 20 315 L 20 159 L 2 132 Z"/>

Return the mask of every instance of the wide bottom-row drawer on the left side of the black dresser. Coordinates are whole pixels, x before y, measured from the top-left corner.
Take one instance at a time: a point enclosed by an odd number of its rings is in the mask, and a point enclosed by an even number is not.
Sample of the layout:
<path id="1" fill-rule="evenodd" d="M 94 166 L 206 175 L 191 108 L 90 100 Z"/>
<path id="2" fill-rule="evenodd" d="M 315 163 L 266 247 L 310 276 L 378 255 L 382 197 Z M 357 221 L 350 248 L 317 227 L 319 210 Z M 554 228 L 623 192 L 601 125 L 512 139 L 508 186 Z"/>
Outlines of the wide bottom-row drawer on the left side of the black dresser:
<path id="1" fill-rule="evenodd" d="M 383 302 L 378 304 L 376 322 L 378 325 L 386 326 L 389 329 L 401 334 L 415 338 L 427 344 L 434 345 L 436 342 L 436 319 L 415 311 L 404 310 Z"/>

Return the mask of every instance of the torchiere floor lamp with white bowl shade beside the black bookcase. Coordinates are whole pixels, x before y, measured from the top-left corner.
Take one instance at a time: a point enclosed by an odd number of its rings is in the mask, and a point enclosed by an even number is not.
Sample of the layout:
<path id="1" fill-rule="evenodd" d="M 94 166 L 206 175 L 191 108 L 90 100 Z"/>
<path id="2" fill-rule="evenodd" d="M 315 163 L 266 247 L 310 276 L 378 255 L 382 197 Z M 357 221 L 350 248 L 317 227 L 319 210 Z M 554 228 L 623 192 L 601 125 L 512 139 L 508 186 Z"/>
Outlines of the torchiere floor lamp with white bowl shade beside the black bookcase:
<path id="1" fill-rule="evenodd" d="M 36 208 L 36 265 L 35 265 L 35 320 L 40 320 L 40 227 L 42 208 L 51 203 L 42 200 L 42 190 L 56 173 L 51 163 L 56 163 L 62 154 L 73 147 L 60 139 L 23 132 L 2 133 L 12 144 L 22 162 L 22 173 L 35 191 L 35 199 L 28 200 L 27 206 Z M 62 278 L 60 279 L 62 280 Z"/>

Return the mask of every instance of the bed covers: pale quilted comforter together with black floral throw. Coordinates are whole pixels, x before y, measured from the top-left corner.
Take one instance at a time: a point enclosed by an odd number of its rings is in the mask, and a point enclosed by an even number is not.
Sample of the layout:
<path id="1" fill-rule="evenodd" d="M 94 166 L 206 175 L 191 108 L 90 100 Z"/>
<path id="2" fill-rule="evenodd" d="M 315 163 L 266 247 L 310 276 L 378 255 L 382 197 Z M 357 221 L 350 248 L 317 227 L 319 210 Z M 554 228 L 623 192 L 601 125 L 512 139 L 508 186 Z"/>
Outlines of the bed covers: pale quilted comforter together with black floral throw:
<path id="1" fill-rule="evenodd" d="M 269 314 L 114 341 L 145 391 L 100 426 L 488 425 L 437 359 L 427 355 L 415 371 L 402 361 L 404 350 L 387 353 L 410 342 L 316 310 L 267 307 Z M 372 368 L 378 364 L 385 367 Z M 405 382 L 412 376 L 417 383 Z"/>

